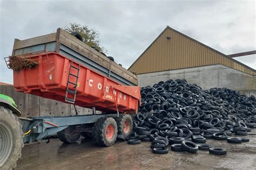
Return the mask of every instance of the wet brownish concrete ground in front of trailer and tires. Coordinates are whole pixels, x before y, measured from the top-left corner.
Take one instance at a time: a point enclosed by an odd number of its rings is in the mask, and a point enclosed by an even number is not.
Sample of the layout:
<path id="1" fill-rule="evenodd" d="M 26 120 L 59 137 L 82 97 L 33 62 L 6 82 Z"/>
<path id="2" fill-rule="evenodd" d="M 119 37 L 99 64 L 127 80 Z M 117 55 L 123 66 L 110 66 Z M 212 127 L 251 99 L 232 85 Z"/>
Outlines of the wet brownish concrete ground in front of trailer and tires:
<path id="1" fill-rule="evenodd" d="M 207 139 L 206 143 L 225 147 L 226 155 L 173 152 L 171 146 L 169 153 L 160 155 L 151 152 L 150 142 L 128 145 L 117 141 L 99 147 L 91 139 L 81 138 L 74 144 L 52 139 L 49 144 L 25 146 L 16 169 L 256 169 L 256 129 L 248 133 L 254 135 L 242 144 Z"/>

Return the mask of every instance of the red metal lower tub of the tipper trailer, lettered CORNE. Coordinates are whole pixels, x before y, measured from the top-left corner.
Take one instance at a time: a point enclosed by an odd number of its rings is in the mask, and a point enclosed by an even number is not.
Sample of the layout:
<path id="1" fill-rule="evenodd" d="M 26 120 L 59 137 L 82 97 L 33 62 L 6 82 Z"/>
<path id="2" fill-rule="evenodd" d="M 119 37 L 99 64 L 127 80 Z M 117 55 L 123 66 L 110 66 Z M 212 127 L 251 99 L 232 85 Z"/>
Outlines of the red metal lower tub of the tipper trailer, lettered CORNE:
<path id="1" fill-rule="evenodd" d="M 38 61 L 39 65 L 14 72 L 16 91 L 80 107 L 96 107 L 104 112 L 135 114 L 138 111 L 138 86 L 122 86 L 56 52 L 39 52 L 25 57 Z"/>

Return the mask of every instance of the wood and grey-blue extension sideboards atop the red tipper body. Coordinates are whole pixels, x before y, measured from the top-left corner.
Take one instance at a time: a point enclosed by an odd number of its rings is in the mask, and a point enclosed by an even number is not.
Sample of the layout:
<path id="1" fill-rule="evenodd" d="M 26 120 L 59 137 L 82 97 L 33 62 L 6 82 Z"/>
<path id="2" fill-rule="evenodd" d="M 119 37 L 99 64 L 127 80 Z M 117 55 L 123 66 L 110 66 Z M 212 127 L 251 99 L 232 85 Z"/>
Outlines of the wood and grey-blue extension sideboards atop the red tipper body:
<path id="1" fill-rule="evenodd" d="M 44 36 L 25 40 L 15 39 L 12 56 L 26 55 L 37 51 L 57 52 L 119 84 L 124 86 L 138 85 L 137 75 L 62 29 L 57 29 L 55 33 Z"/>

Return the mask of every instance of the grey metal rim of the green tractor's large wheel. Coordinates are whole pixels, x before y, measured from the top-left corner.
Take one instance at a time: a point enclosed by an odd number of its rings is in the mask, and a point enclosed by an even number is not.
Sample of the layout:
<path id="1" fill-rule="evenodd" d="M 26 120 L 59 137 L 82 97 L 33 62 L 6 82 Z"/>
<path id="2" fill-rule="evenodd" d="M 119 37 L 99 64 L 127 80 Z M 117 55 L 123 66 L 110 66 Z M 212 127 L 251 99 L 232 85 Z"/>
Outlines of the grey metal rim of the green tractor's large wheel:
<path id="1" fill-rule="evenodd" d="M 0 122 L 0 167 L 9 158 L 14 145 L 13 135 L 10 128 L 3 122 Z"/>

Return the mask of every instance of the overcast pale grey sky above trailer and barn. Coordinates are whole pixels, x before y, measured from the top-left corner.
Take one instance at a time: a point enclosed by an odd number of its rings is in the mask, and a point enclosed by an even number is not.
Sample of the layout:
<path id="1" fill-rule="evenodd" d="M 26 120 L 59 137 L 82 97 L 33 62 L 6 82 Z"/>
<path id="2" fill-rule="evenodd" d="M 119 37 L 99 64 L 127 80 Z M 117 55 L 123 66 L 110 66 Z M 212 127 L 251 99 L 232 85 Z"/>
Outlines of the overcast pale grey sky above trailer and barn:
<path id="1" fill-rule="evenodd" d="M 3 58 L 14 39 L 69 23 L 97 30 L 100 43 L 128 68 L 167 25 L 224 54 L 256 49 L 255 1 L 2 1 L 0 82 L 12 83 Z M 256 55 L 235 58 L 256 68 Z"/>

